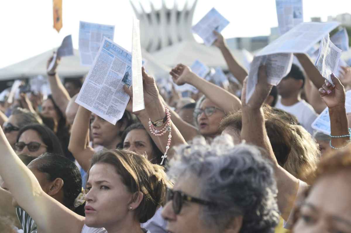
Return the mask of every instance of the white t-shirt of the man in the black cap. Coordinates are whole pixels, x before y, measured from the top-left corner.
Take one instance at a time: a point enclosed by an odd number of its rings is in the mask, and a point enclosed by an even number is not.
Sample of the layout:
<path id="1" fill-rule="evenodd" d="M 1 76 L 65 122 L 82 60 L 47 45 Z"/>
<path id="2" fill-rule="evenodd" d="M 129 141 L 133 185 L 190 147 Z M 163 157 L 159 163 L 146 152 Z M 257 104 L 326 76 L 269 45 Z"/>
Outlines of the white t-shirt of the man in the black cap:
<path id="1" fill-rule="evenodd" d="M 300 100 L 294 105 L 285 106 L 281 102 L 281 97 L 278 97 L 276 108 L 282 109 L 287 113 L 296 116 L 300 124 L 310 133 L 313 134 L 312 123 L 316 120 L 318 114 L 314 111 L 313 107 L 305 100 Z"/>

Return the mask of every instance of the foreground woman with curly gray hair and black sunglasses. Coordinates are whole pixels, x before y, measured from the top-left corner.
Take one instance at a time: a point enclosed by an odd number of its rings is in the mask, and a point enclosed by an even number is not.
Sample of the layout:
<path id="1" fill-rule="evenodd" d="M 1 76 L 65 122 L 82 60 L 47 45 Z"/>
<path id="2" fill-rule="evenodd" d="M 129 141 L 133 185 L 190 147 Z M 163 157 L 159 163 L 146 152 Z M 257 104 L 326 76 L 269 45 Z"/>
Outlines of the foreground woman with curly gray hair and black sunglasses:
<path id="1" fill-rule="evenodd" d="M 162 216 L 172 233 L 273 232 L 279 221 L 272 166 L 258 148 L 229 136 L 182 146 L 170 160 L 176 182 Z"/>

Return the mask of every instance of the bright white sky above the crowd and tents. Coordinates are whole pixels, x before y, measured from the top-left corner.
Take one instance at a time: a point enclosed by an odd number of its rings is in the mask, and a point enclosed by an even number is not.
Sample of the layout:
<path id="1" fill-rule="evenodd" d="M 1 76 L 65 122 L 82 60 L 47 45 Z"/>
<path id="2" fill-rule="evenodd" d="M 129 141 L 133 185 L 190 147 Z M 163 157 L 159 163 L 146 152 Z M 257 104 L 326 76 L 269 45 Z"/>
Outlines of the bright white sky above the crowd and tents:
<path id="1" fill-rule="evenodd" d="M 136 0 L 133 0 L 136 1 Z M 165 0 L 172 6 L 173 0 Z M 192 1 L 192 0 L 190 0 Z M 132 17 L 129 0 L 62 0 L 63 27 L 60 33 L 53 29 L 52 1 L 2 1 L 0 7 L 0 68 L 25 60 L 60 45 L 72 34 L 73 47 L 78 49 L 79 21 L 115 25 L 114 41 L 131 50 Z M 141 0 L 147 9 L 148 0 Z M 161 0 L 156 0 L 155 7 Z M 185 0 L 178 1 L 184 5 Z M 223 30 L 225 38 L 269 35 L 270 28 L 278 26 L 275 0 L 198 0 L 193 24 L 212 7 L 230 21 Z M 303 0 L 304 21 L 320 16 L 345 13 L 350 0 Z"/>

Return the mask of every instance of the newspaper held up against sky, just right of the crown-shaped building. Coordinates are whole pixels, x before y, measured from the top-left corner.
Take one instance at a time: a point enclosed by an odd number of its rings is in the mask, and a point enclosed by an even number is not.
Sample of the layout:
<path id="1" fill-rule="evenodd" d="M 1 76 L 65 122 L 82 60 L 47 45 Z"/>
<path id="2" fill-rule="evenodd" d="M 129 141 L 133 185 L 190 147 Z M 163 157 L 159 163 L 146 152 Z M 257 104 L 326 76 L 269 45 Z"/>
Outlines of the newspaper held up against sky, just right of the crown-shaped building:
<path id="1" fill-rule="evenodd" d="M 196 25 L 191 29 L 204 40 L 205 45 L 210 46 L 217 36 L 213 31 L 221 32 L 229 21 L 223 17 L 216 9 L 212 8 Z"/>

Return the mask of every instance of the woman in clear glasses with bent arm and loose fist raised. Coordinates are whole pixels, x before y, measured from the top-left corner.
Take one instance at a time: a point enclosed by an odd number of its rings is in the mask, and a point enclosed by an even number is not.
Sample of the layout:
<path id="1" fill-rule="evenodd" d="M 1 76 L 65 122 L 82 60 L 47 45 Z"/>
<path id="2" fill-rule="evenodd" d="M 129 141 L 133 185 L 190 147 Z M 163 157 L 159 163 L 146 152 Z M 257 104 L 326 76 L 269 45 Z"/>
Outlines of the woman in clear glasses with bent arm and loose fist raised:
<path id="1" fill-rule="evenodd" d="M 188 66 L 179 64 L 172 69 L 170 74 L 177 85 L 191 84 L 204 93 L 194 109 L 194 121 L 198 126 L 198 132 L 205 138 L 214 138 L 220 134 L 219 123 L 225 114 L 241 107 L 241 101 L 235 95 L 200 78 Z M 183 128 L 179 123 L 177 127 Z M 187 127 L 187 131 L 193 130 L 193 128 Z M 185 134 L 185 132 L 181 133 Z"/>

